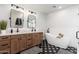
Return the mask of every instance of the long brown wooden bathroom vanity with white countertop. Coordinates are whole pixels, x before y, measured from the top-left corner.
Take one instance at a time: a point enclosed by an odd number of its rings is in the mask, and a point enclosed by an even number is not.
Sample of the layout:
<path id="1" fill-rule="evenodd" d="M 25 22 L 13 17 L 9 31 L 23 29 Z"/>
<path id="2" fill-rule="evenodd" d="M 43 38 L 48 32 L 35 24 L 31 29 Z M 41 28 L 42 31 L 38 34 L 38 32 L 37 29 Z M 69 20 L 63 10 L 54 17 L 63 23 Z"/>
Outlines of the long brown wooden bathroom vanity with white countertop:
<path id="1" fill-rule="evenodd" d="M 19 53 L 33 46 L 39 45 L 43 39 L 43 32 L 6 34 L 0 36 L 0 53 Z"/>

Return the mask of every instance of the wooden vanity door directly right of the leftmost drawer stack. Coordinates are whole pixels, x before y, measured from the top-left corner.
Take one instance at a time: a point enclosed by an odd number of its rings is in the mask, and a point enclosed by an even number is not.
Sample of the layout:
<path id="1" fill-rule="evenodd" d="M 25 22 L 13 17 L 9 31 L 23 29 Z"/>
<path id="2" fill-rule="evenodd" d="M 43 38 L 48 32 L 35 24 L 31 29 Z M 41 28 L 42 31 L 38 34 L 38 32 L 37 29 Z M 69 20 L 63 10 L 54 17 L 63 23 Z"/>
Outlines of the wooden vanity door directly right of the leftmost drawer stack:
<path id="1" fill-rule="evenodd" d="M 19 38 L 14 36 L 11 38 L 11 53 L 18 53 L 19 52 Z"/>

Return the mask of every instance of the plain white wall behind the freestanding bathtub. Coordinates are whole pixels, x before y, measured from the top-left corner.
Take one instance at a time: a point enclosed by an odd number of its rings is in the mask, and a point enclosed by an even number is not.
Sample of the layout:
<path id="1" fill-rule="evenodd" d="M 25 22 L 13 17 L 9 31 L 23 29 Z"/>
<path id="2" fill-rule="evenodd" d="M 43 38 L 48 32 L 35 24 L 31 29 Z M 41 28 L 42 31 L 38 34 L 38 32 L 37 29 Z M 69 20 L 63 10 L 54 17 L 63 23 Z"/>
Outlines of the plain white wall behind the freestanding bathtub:
<path id="1" fill-rule="evenodd" d="M 64 34 L 64 36 L 70 38 L 69 46 L 77 48 L 76 31 L 79 27 L 79 6 L 73 6 L 60 11 L 52 12 L 48 14 L 47 28 L 50 28 L 50 32 L 53 35 L 58 33 Z M 65 43 L 64 43 L 65 44 Z"/>

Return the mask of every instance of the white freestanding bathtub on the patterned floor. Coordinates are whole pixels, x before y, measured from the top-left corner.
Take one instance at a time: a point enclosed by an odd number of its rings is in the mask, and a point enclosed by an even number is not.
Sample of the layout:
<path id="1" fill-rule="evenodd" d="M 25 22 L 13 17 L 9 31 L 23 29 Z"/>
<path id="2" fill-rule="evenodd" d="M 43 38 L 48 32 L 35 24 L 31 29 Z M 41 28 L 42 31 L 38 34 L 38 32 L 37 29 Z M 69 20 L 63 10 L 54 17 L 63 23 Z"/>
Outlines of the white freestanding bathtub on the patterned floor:
<path id="1" fill-rule="evenodd" d="M 61 39 L 56 38 L 56 36 L 51 34 L 51 33 L 46 33 L 45 36 L 46 36 L 47 42 L 51 45 L 55 45 L 55 46 L 58 46 L 58 47 L 61 47 L 61 48 L 64 48 L 64 49 L 67 48 L 68 45 L 69 45 L 70 40 L 66 36 L 64 36 Z"/>

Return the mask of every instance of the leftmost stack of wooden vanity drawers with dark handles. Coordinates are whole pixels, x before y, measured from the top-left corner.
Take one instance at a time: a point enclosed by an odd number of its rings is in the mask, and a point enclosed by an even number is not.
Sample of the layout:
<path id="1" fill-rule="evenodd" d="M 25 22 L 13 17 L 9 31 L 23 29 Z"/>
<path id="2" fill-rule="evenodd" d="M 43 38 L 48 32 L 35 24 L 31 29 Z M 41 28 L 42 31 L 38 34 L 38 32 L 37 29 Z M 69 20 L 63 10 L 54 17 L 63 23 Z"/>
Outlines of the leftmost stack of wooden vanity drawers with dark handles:
<path id="1" fill-rule="evenodd" d="M 10 53 L 10 36 L 0 37 L 0 54 Z"/>

